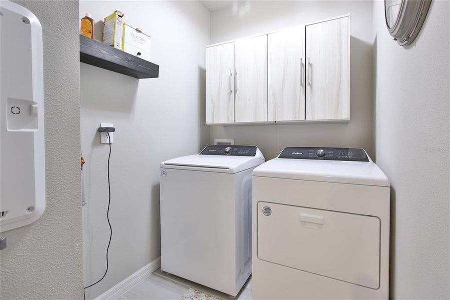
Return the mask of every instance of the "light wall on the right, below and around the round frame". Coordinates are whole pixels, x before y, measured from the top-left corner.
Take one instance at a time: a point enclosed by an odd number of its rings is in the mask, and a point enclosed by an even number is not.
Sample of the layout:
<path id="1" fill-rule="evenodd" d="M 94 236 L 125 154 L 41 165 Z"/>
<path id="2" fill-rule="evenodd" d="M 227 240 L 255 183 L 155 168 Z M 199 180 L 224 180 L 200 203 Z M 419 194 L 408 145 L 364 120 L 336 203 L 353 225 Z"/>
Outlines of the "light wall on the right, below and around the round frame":
<path id="1" fill-rule="evenodd" d="M 374 2 L 377 163 L 392 184 L 391 297 L 450 298 L 450 2 L 408 48 Z"/>

